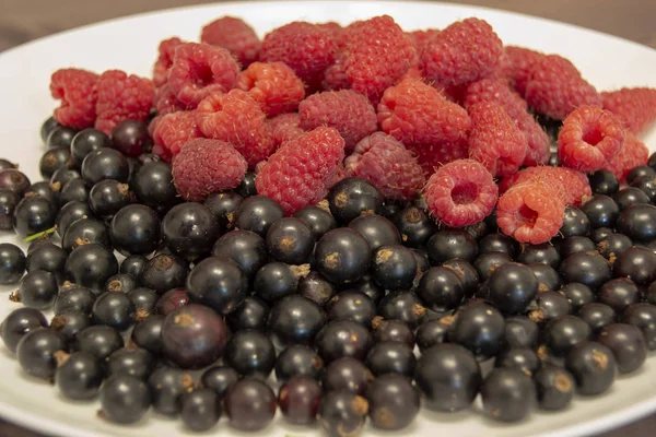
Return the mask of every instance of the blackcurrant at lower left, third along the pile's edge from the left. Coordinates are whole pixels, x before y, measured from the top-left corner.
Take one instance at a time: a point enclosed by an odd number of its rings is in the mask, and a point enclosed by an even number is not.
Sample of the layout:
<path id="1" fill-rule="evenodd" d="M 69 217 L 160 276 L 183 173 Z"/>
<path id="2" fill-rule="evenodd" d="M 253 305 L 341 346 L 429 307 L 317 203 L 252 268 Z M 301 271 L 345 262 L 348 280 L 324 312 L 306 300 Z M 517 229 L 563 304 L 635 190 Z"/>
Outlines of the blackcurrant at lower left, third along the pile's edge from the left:
<path id="1" fill-rule="evenodd" d="M 101 363 L 86 352 L 57 354 L 59 364 L 55 370 L 55 385 L 59 392 L 73 400 L 94 399 L 105 377 Z"/>

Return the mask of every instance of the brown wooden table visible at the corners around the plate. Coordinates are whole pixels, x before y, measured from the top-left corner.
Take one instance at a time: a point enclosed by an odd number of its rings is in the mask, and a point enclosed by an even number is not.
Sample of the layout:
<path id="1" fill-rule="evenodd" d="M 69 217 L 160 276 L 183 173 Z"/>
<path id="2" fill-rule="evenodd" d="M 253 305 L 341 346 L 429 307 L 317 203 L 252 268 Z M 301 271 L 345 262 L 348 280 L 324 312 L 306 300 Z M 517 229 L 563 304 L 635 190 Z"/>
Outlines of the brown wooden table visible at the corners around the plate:
<path id="1" fill-rule="evenodd" d="M 55 32 L 101 20 L 185 4 L 211 3 L 188 0 L 0 0 L 0 51 Z M 559 20 L 594 28 L 656 48 L 654 0 L 470 0 L 470 3 Z M 601 437 L 651 437 L 656 415 L 606 433 Z M 2 437 L 42 437 L 0 421 Z"/>

